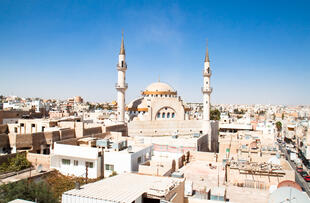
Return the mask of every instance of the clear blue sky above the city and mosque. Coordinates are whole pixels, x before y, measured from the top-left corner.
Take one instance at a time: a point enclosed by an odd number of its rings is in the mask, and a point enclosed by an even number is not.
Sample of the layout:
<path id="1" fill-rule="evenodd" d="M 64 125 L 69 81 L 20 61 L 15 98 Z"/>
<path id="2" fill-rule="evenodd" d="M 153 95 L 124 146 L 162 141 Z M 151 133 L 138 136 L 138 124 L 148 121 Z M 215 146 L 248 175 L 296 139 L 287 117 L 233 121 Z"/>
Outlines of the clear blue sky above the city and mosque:
<path id="1" fill-rule="evenodd" d="M 0 94 L 116 99 L 125 32 L 129 102 L 169 83 L 212 103 L 310 104 L 310 1 L 0 0 Z"/>

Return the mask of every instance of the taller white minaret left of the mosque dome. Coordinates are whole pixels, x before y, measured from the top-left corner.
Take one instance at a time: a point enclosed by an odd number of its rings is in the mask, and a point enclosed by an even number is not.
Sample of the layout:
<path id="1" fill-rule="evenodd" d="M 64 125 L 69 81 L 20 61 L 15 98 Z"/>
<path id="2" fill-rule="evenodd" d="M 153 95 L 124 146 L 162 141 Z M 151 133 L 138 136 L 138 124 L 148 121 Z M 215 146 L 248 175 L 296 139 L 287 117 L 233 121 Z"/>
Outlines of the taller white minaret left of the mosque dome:
<path id="1" fill-rule="evenodd" d="M 128 88 L 128 84 L 125 83 L 125 73 L 127 70 L 125 47 L 124 47 L 124 33 L 122 33 L 121 50 L 118 55 L 117 64 L 117 83 L 115 88 L 117 90 L 117 121 L 120 123 L 125 122 L 125 91 Z"/>

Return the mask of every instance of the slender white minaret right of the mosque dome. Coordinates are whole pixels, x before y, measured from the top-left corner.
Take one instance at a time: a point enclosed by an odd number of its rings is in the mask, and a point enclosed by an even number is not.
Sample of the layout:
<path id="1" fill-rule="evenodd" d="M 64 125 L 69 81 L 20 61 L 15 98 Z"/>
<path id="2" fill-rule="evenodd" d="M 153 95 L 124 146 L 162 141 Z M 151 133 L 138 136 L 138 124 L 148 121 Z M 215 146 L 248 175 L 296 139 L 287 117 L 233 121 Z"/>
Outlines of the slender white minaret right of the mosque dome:
<path id="1" fill-rule="evenodd" d="M 203 69 L 203 120 L 210 120 L 210 95 L 212 93 L 212 88 L 210 87 L 210 78 L 211 78 L 211 70 L 210 70 L 210 59 L 209 59 L 209 50 L 208 50 L 208 41 L 207 41 L 207 50 L 206 57 L 204 62 Z"/>

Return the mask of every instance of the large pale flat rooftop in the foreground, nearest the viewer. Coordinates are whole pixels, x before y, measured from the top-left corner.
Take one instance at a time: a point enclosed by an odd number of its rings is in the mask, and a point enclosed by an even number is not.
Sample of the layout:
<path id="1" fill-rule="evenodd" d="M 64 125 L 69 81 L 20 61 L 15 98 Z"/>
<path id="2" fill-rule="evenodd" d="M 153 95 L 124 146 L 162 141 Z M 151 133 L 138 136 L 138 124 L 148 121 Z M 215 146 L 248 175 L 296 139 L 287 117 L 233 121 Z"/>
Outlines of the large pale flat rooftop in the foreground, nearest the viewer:
<path id="1" fill-rule="evenodd" d="M 125 173 L 81 186 L 63 193 L 72 196 L 113 202 L 133 202 L 144 193 L 158 198 L 165 197 L 184 179 Z"/>

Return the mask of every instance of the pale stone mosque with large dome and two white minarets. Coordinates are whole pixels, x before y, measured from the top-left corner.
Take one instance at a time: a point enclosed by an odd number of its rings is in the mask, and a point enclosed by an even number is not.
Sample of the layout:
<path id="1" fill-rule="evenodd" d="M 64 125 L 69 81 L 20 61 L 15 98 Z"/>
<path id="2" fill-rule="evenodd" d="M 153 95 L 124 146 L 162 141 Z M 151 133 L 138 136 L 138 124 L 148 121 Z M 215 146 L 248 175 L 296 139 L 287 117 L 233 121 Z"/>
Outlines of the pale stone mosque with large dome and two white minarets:
<path id="1" fill-rule="evenodd" d="M 124 37 L 117 64 L 117 122 L 127 125 L 129 136 L 159 137 L 183 135 L 207 135 L 208 151 L 218 151 L 218 122 L 210 120 L 210 59 L 208 47 L 204 60 L 203 119 L 191 120 L 190 108 L 183 102 L 177 91 L 164 82 L 155 82 L 146 87 L 141 97 L 125 106 L 125 81 L 127 71 Z"/>

